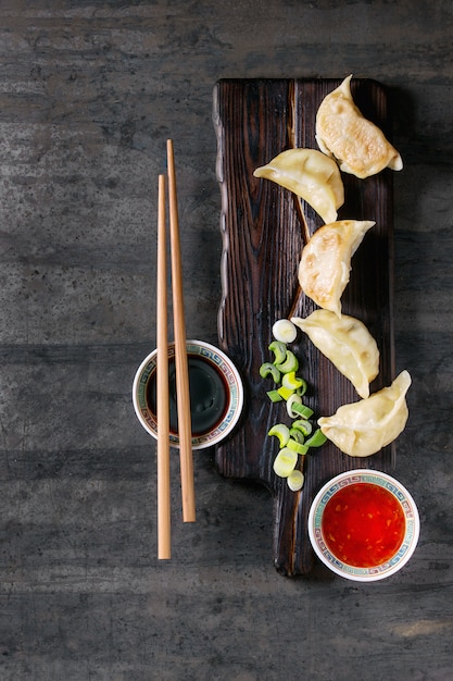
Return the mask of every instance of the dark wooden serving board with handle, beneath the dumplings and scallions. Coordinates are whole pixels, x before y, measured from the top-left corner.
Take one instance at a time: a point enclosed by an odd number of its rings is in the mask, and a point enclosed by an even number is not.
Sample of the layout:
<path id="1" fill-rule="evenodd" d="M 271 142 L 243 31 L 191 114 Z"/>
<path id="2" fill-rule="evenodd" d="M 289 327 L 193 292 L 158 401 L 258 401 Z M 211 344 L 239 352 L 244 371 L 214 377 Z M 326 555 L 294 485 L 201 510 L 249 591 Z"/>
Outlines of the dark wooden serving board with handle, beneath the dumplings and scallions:
<path id="1" fill-rule="evenodd" d="M 214 90 L 217 177 L 222 194 L 222 281 L 218 311 L 221 347 L 236 362 L 246 387 L 246 407 L 235 434 L 216 449 L 216 466 L 228 478 L 265 485 L 274 497 L 274 561 L 282 574 L 312 570 L 314 554 L 307 535 L 310 505 L 319 487 L 353 468 L 391 470 L 394 447 L 368 458 L 351 458 L 331 443 L 312 449 L 305 459 L 305 484 L 291 492 L 272 469 L 278 450 L 268 437 L 272 424 L 288 422 L 282 404 L 269 403 L 272 387 L 259 374 L 272 360 L 273 323 L 290 313 L 306 317 L 314 304 L 300 294 L 297 271 L 304 244 L 301 205 L 293 195 L 253 171 L 284 149 L 317 148 L 316 111 L 338 79 L 223 79 Z M 386 91 L 375 81 L 353 79 L 352 92 L 363 114 L 389 135 Z M 352 261 L 342 310 L 362 320 L 377 340 L 380 372 L 372 392 L 394 377 L 392 334 L 392 171 L 367 179 L 342 174 L 345 202 L 338 219 L 375 220 Z M 309 233 L 323 223 L 304 202 Z M 306 228 L 305 227 L 305 228 Z M 292 312 L 291 312 L 292 311 Z M 329 416 L 358 399 L 355 389 L 302 337 L 293 348 L 309 382 L 306 404 L 316 418 Z"/>

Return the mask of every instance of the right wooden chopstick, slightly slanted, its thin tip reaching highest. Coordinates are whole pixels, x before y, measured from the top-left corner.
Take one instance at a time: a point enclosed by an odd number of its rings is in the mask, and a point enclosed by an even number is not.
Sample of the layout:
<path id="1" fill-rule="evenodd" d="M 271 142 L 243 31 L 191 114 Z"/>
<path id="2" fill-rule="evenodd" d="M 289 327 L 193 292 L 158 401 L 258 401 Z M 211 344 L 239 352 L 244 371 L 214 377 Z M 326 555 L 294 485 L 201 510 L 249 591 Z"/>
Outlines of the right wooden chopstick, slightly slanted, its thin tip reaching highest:
<path id="1" fill-rule="evenodd" d="M 173 140 L 167 140 L 167 171 L 169 199 L 169 243 L 172 253 L 173 324 L 175 333 L 176 396 L 183 495 L 183 520 L 194 522 L 192 424 L 190 418 L 189 369 L 187 359 L 186 322 L 184 311 L 183 273 L 180 258 L 179 219 L 176 190 Z"/>

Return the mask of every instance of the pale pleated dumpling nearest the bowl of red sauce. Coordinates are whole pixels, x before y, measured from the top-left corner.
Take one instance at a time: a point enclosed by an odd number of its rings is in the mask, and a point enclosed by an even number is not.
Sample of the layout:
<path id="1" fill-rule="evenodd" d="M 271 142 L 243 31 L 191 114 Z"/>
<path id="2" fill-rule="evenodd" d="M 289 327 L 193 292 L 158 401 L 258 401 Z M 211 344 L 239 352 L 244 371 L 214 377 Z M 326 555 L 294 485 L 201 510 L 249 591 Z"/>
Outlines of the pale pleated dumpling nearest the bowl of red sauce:
<path id="1" fill-rule="evenodd" d="M 410 373 L 402 371 L 389 387 L 366 399 L 339 407 L 334 416 L 318 419 L 318 425 L 326 437 L 349 456 L 376 454 L 405 428 L 410 385 Z"/>

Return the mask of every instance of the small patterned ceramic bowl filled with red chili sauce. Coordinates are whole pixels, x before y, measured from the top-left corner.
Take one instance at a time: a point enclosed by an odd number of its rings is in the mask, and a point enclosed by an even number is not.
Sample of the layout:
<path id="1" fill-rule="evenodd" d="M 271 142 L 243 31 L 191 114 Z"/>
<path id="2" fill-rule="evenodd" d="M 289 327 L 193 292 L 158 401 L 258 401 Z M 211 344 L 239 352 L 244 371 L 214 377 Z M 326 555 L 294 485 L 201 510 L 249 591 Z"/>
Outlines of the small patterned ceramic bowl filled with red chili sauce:
<path id="1" fill-rule="evenodd" d="M 315 496 L 309 535 L 315 554 L 336 574 L 373 582 L 401 570 L 419 536 L 411 494 L 387 473 L 352 470 Z"/>

